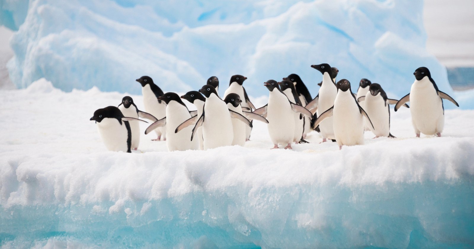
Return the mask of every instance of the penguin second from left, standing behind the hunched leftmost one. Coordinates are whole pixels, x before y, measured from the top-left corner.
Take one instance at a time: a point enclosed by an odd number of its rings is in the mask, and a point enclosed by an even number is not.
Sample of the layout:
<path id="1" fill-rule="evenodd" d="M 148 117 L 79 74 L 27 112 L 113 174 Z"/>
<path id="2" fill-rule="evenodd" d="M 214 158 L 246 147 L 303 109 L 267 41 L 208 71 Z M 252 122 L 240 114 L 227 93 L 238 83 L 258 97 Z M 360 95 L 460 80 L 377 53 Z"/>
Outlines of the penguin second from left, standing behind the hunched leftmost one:
<path id="1" fill-rule="evenodd" d="M 118 105 L 118 109 L 122 112 L 122 114 L 126 117 L 136 118 L 138 117 L 152 120 L 155 122 L 157 119 L 151 115 L 150 113 L 140 111 L 135 105 L 132 97 L 125 96 L 122 98 L 122 102 Z M 140 125 L 138 121 L 130 121 L 130 129 L 132 130 L 132 149 L 137 150 L 138 145 L 140 144 Z"/>

